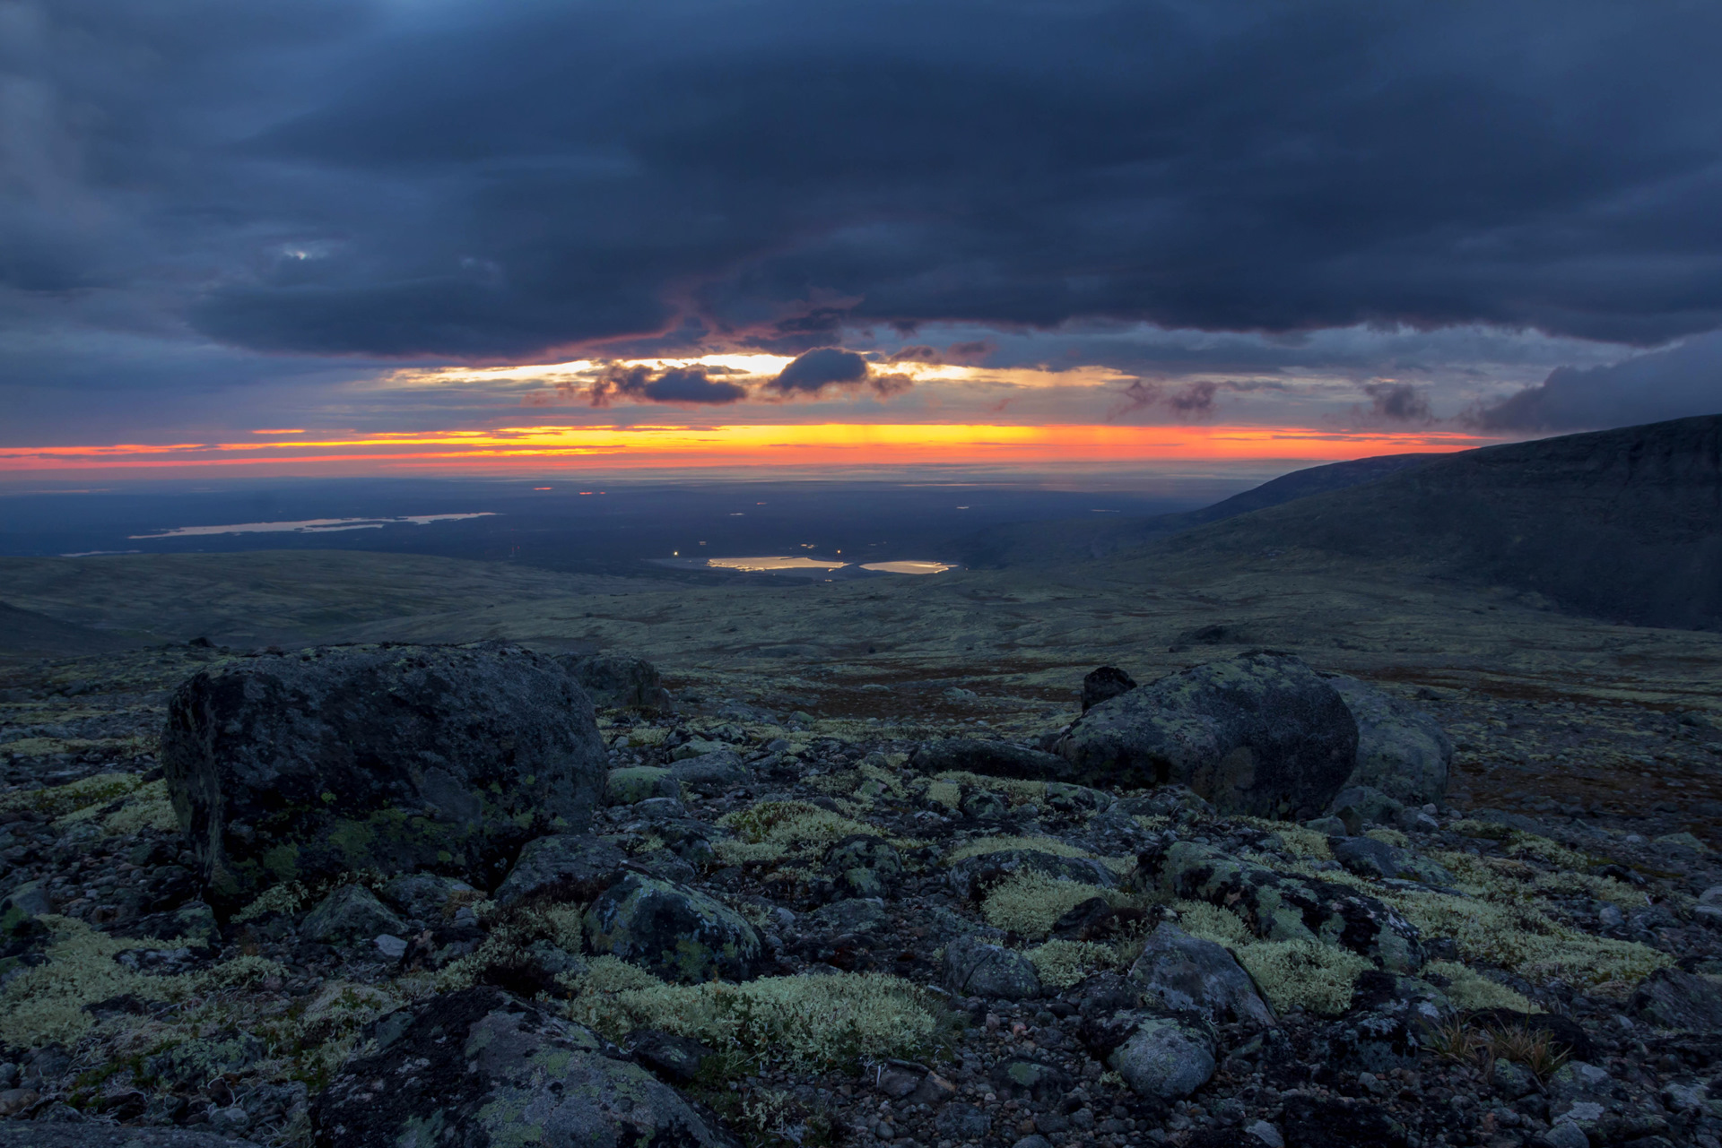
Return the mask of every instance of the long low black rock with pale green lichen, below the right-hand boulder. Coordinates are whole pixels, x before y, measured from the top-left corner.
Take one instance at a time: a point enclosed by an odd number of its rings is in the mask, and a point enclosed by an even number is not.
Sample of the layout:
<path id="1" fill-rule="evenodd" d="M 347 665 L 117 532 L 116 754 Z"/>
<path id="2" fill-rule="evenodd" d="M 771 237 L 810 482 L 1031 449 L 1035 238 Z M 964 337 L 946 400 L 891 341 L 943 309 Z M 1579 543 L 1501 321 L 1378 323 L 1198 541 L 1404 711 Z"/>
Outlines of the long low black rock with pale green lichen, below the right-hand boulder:
<path id="1" fill-rule="evenodd" d="M 1140 888 L 1228 907 L 1262 940 L 1338 945 L 1390 972 L 1422 967 L 1415 926 L 1343 885 L 1283 876 L 1193 842 L 1147 849 L 1138 864 Z"/>

